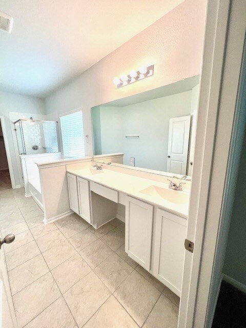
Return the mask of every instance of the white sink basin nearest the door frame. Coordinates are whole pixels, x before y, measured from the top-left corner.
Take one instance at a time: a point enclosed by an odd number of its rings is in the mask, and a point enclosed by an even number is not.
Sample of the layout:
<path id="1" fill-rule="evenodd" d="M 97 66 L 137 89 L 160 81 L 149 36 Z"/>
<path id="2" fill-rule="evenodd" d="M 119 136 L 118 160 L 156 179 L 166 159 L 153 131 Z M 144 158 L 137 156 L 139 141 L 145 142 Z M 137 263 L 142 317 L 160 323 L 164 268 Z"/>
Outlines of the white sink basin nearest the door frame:
<path id="1" fill-rule="evenodd" d="M 182 191 L 165 189 L 157 186 L 150 186 L 141 190 L 140 193 L 158 198 L 161 197 L 162 199 L 176 204 L 185 204 L 189 201 L 189 196 Z"/>

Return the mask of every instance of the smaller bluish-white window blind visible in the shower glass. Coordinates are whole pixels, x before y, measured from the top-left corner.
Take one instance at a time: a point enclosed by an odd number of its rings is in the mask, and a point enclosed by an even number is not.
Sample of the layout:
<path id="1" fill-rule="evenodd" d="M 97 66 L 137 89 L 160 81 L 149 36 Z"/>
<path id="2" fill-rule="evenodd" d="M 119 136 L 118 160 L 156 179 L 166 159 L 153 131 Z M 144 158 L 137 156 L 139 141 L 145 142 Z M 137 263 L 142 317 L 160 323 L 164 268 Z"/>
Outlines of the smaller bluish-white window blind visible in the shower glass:
<path id="1" fill-rule="evenodd" d="M 58 153 L 56 122 L 43 122 L 46 153 Z"/>

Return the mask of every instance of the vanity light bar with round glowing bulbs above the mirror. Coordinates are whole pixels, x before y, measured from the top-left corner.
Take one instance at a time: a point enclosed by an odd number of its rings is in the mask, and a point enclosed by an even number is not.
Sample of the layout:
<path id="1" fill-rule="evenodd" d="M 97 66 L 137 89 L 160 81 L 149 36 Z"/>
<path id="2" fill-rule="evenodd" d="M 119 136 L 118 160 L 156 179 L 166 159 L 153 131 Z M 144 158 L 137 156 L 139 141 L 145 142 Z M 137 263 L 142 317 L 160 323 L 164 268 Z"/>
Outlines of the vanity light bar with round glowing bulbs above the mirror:
<path id="1" fill-rule="evenodd" d="M 129 75 L 123 74 L 121 77 L 115 77 L 113 82 L 117 88 L 128 86 L 138 80 L 152 76 L 154 74 L 154 65 L 141 66 L 138 71 L 132 70 Z"/>

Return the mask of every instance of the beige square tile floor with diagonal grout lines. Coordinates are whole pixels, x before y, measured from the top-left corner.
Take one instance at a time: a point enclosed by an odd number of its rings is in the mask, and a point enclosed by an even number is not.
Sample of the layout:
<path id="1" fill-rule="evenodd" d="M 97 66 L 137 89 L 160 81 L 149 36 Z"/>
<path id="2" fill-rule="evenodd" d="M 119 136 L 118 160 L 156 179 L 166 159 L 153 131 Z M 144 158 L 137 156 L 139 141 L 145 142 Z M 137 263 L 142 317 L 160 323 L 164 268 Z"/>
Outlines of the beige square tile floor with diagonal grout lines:
<path id="1" fill-rule="evenodd" d="M 0 191 L 1 234 L 19 327 L 176 328 L 179 298 L 125 253 L 124 223 L 76 214 L 44 225 L 23 189 Z"/>

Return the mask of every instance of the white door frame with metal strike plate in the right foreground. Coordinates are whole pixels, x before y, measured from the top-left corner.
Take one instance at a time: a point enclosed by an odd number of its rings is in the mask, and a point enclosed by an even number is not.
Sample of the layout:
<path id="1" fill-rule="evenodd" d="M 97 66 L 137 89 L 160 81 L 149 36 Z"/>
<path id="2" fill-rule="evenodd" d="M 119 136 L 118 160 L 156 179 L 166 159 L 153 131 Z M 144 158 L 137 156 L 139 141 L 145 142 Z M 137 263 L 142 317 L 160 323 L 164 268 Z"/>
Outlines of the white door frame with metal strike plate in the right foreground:
<path id="1" fill-rule="evenodd" d="M 194 253 L 185 252 L 178 328 L 212 323 L 208 309 L 215 300 L 210 298 L 211 282 L 235 127 L 245 10 L 243 1 L 208 1 L 187 229 Z"/>

